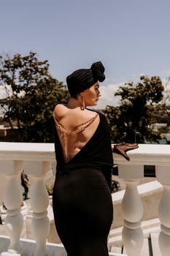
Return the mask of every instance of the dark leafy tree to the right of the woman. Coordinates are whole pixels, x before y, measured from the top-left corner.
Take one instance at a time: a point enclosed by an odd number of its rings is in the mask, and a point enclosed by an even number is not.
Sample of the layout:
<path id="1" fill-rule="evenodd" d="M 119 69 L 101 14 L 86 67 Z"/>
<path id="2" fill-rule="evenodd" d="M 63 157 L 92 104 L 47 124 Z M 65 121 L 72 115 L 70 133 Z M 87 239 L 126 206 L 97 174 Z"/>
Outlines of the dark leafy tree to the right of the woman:
<path id="1" fill-rule="evenodd" d="M 160 138 L 158 132 L 150 129 L 150 124 L 154 122 L 153 107 L 163 98 L 163 84 L 157 76 L 141 76 L 140 80 L 137 84 L 132 82 L 120 86 L 115 96 L 121 97 L 121 105 L 107 106 L 104 110 L 112 140 L 116 143 L 144 143 L 145 140 L 151 142 Z"/>

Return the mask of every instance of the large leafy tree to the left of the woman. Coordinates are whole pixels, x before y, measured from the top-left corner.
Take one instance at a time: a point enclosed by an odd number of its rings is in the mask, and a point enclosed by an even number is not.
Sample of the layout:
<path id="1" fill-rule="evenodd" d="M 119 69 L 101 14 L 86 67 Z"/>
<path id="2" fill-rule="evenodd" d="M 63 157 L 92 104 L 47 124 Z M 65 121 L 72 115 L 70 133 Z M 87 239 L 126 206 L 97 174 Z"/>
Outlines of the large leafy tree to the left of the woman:
<path id="1" fill-rule="evenodd" d="M 0 86 L 4 89 L 0 105 L 15 140 L 52 141 L 53 108 L 69 98 L 66 86 L 50 75 L 48 61 L 39 61 L 36 53 L 0 56 L 0 65 Z"/>

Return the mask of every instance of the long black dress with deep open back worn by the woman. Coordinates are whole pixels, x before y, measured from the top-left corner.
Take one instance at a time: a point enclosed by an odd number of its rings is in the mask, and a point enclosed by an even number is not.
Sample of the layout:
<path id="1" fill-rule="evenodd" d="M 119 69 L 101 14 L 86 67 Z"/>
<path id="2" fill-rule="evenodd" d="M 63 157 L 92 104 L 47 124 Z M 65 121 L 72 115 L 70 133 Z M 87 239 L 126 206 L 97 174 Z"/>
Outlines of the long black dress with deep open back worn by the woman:
<path id="1" fill-rule="evenodd" d="M 112 148 L 107 119 L 98 113 L 96 132 L 67 163 L 55 129 L 57 170 L 53 211 L 58 236 L 68 256 L 107 256 L 113 207 L 109 186 Z"/>

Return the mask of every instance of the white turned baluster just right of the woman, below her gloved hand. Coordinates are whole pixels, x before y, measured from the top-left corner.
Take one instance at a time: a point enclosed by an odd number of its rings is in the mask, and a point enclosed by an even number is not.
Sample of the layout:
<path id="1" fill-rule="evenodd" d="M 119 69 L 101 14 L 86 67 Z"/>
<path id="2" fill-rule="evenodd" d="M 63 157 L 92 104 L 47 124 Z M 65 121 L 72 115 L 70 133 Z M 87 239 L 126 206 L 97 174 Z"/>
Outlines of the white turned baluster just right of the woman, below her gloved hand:
<path id="1" fill-rule="evenodd" d="M 119 177 L 125 181 L 125 195 L 122 202 L 124 227 L 123 244 L 128 256 L 139 255 L 143 244 L 141 219 L 143 216 L 142 200 L 137 184 L 144 178 L 144 167 L 141 165 L 119 165 Z"/>

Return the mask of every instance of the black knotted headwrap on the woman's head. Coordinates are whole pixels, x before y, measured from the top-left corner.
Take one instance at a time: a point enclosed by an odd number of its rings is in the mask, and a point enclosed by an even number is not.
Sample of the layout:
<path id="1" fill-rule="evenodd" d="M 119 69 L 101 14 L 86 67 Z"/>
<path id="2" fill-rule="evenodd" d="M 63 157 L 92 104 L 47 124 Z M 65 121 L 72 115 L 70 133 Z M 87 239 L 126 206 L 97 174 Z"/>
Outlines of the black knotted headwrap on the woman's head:
<path id="1" fill-rule="evenodd" d="M 69 94 L 76 97 L 80 92 L 93 86 L 97 81 L 103 82 L 105 79 L 104 66 L 101 61 L 95 62 L 90 69 L 77 69 L 66 78 Z"/>

